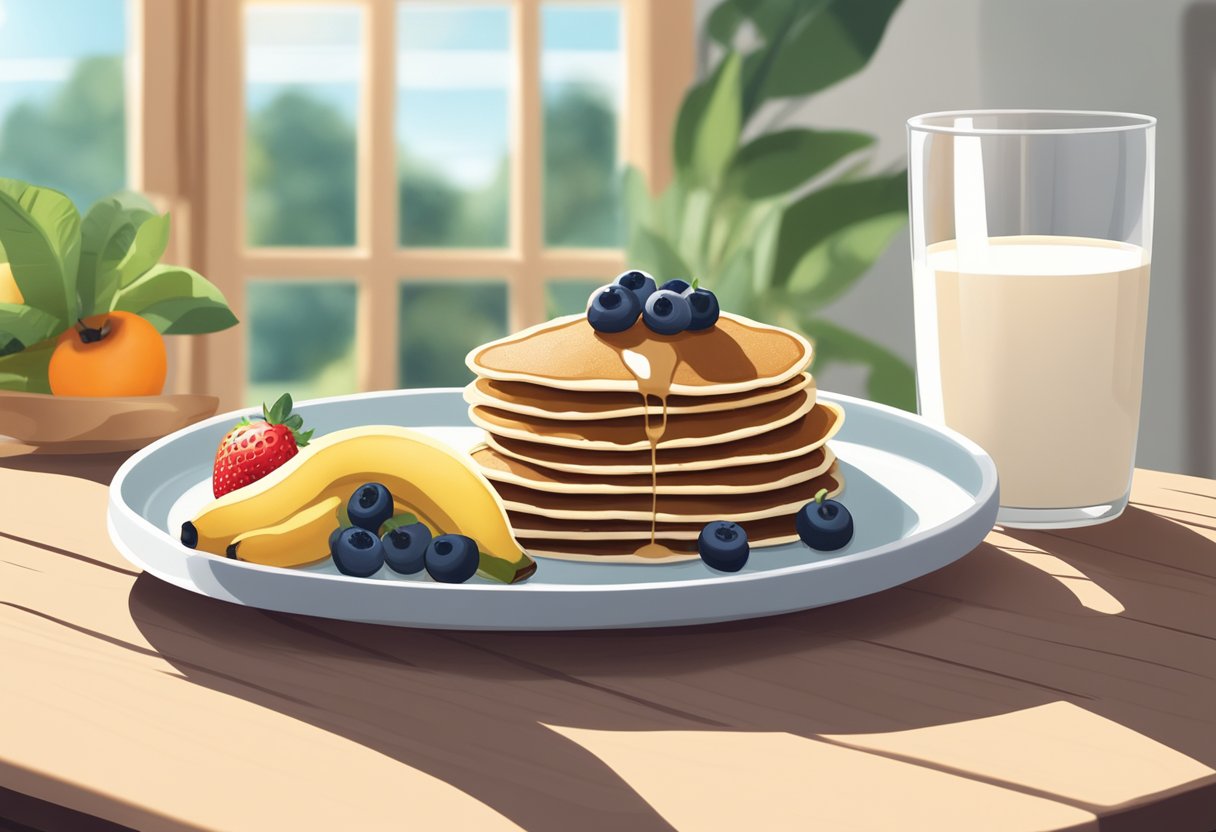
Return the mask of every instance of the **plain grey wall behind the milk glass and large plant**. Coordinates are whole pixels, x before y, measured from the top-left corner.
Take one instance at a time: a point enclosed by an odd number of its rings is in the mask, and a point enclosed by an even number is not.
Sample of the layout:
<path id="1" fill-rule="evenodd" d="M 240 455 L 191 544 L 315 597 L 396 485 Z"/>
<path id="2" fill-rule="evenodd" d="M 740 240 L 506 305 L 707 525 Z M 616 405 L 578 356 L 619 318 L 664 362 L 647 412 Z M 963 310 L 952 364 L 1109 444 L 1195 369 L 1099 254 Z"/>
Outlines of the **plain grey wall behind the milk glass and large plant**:
<path id="1" fill-rule="evenodd" d="M 699 18 L 714 5 L 699 0 Z M 1195 275 L 1189 289 L 1184 282 L 1186 176 L 1195 165 L 1184 159 L 1183 30 L 1184 21 L 1192 19 L 1188 10 L 1193 16 L 1192 6 L 1200 5 L 1192 0 L 903 0 L 866 69 L 806 101 L 788 123 L 867 130 L 878 136 L 876 163 L 882 167 L 903 164 L 905 120 L 922 112 L 1046 107 L 1156 116 L 1153 288 L 1137 462 L 1216 476 L 1209 411 L 1197 409 L 1194 398 L 1199 390 L 1200 404 L 1210 406 L 1214 380 L 1206 361 L 1193 355 L 1188 360 L 1188 349 L 1210 343 L 1195 331 L 1210 326 L 1216 308 L 1190 315 L 1201 322 L 1190 325 L 1189 339 L 1186 314 L 1187 292 L 1193 299 L 1206 299 L 1205 293 L 1195 294 L 1194 283 L 1206 286 L 1211 275 Z M 1207 90 L 1216 96 L 1216 89 Z M 1199 169 L 1211 172 L 1212 167 Z M 1216 189 L 1216 182 L 1209 185 Z M 911 361 L 910 281 L 903 235 L 829 314 Z M 820 381 L 827 389 L 861 392 L 860 373 L 829 371 Z M 1188 418 L 1188 407 L 1201 423 Z"/>

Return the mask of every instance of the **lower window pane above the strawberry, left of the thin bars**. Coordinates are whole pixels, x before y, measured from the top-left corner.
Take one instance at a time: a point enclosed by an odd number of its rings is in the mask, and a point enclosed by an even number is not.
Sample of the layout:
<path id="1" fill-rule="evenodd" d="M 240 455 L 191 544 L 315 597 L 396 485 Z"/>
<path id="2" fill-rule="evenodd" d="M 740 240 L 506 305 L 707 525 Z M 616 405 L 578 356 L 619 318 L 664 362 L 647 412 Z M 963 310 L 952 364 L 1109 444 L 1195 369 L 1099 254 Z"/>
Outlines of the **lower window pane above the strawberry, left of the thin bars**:
<path id="1" fill-rule="evenodd" d="M 355 294 L 349 281 L 249 281 L 246 401 L 354 393 Z"/>

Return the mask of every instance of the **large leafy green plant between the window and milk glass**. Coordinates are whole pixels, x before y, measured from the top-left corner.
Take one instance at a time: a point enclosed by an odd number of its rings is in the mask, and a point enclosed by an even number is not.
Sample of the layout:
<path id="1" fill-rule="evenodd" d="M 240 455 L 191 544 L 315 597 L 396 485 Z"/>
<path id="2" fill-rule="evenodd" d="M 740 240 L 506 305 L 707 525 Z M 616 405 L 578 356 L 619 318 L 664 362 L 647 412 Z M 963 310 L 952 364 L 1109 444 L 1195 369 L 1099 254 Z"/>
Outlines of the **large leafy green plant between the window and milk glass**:
<path id="1" fill-rule="evenodd" d="M 863 366 L 869 398 L 914 410 L 912 367 L 822 314 L 903 227 L 906 172 L 866 170 L 873 136 L 772 131 L 761 116 L 866 66 L 899 2 L 724 0 L 705 24 L 716 62 L 676 123 L 675 181 L 652 196 L 631 170 L 625 191 L 631 264 L 697 277 L 724 309 L 801 330 L 816 372 Z"/>

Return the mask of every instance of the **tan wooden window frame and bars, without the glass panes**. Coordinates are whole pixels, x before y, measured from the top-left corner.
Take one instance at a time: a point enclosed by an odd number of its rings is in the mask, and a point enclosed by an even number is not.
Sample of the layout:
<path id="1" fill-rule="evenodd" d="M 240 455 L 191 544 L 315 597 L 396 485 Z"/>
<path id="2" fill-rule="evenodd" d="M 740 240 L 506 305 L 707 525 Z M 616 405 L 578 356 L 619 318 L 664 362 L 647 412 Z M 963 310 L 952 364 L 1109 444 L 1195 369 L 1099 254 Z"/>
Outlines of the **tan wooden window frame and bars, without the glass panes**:
<path id="1" fill-rule="evenodd" d="M 409 0 L 407 0 L 409 1 Z M 433 0 L 432 0 L 433 1 Z M 462 0 L 445 0 L 446 2 Z M 137 109 L 133 187 L 174 210 L 173 251 L 213 280 L 238 319 L 253 279 L 349 280 L 356 286 L 356 389 L 398 387 L 401 282 L 503 280 L 511 330 L 546 319 L 545 286 L 624 268 L 617 248 L 545 244 L 541 6 L 505 2 L 516 57 L 510 135 L 514 156 L 505 248 L 412 248 L 398 241 L 396 0 L 133 0 Z M 595 5 L 603 0 L 561 0 Z M 693 79 L 693 0 L 618 0 L 624 18 L 621 156 L 652 190 L 670 179 L 670 136 Z M 362 10 L 364 77 L 356 125 L 356 240 L 349 248 L 249 247 L 246 241 L 244 9 L 317 5 Z M 154 67 L 153 72 L 146 72 Z M 384 172 L 392 172 L 384 175 Z M 529 186 L 531 184 L 531 186 Z M 173 386 L 243 404 L 243 326 L 175 339 Z M 385 349 L 385 344 L 392 348 Z M 379 349 L 377 349 L 379 345 Z"/>

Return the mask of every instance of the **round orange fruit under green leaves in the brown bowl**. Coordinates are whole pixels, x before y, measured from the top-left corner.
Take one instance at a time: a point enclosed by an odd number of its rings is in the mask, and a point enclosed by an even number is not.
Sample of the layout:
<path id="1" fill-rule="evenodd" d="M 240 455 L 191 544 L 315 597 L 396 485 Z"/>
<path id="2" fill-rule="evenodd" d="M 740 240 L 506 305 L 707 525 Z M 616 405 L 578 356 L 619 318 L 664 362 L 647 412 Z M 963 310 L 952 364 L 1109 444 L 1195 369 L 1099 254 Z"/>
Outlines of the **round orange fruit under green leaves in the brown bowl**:
<path id="1" fill-rule="evenodd" d="M 58 337 L 49 376 L 55 395 L 158 395 L 164 338 L 134 313 L 92 315 Z"/>

